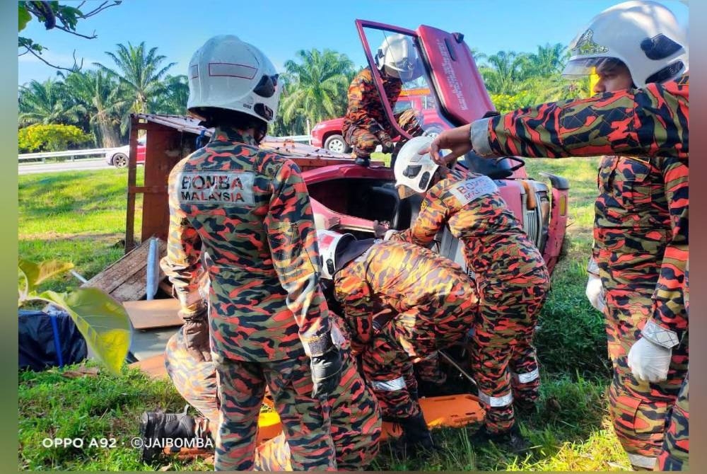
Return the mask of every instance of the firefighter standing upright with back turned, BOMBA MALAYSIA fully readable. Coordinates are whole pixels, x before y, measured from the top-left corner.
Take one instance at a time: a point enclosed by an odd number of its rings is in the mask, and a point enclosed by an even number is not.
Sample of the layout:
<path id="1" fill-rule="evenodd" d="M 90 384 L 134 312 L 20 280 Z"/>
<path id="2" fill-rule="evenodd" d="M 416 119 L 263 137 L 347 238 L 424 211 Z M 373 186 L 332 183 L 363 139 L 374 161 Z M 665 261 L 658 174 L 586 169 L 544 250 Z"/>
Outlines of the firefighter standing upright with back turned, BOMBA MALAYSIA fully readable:
<path id="1" fill-rule="evenodd" d="M 293 469 L 335 469 L 327 396 L 342 363 L 318 285 L 312 208 L 297 166 L 258 149 L 275 118 L 278 76 L 233 35 L 207 40 L 188 75 L 187 109 L 214 134 L 170 173 L 162 267 L 180 300 L 187 349 L 197 360 L 210 353 L 216 368 L 214 467 L 253 468 L 267 386 Z M 208 304 L 197 289 L 202 253 Z M 163 422 L 153 420 L 152 431 Z"/>

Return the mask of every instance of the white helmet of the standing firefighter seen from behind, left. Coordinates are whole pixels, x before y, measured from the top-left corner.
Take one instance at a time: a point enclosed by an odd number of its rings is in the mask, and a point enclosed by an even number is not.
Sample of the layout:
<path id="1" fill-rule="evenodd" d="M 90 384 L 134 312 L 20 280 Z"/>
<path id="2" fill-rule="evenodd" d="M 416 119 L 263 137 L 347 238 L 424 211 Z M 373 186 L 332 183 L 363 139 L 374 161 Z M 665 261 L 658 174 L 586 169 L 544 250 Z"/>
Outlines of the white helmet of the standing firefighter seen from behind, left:
<path id="1" fill-rule="evenodd" d="M 234 35 L 212 37 L 189 61 L 187 109 L 220 108 L 243 112 L 271 124 L 281 88 L 277 71 L 257 47 Z"/>

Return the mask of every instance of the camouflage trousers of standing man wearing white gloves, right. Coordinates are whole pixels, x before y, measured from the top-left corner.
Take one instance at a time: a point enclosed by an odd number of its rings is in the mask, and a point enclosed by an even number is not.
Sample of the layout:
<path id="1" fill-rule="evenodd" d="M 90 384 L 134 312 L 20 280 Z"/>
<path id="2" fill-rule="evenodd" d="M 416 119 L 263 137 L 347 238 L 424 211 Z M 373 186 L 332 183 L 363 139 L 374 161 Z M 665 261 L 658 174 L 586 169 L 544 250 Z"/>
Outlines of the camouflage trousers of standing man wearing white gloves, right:
<path id="1" fill-rule="evenodd" d="M 603 258 L 602 258 L 603 257 Z M 653 255 L 631 255 L 631 265 L 607 267 L 609 258 L 600 252 L 597 263 L 606 291 L 606 329 L 609 358 L 614 376 L 609 386 L 609 411 L 614 430 L 634 468 L 652 469 L 660 453 L 665 420 L 687 374 L 687 338 L 672 349 L 667 380 L 638 382 L 629 369 L 628 354 L 652 316 L 653 290 L 657 274 L 645 270 L 641 262 L 655 267 Z M 629 259 L 626 260 L 629 262 Z"/>

